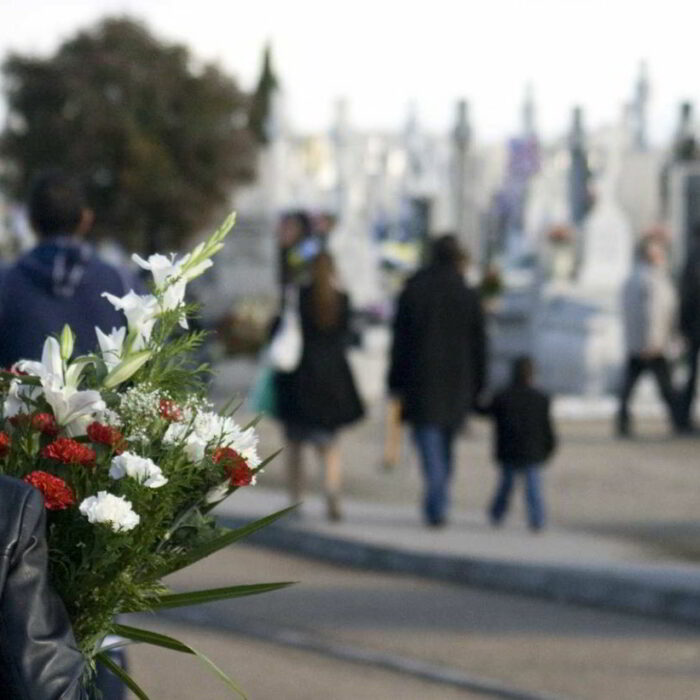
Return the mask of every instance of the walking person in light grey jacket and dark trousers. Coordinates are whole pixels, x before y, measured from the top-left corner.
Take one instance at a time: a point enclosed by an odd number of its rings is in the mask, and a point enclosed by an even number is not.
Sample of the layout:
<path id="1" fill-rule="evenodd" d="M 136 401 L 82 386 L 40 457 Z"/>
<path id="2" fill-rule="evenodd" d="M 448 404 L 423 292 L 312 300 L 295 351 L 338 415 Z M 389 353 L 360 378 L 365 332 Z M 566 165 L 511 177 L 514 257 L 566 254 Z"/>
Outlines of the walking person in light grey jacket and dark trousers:
<path id="1" fill-rule="evenodd" d="M 666 269 L 664 242 L 656 236 L 646 236 L 639 243 L 637 259 L 622 290 L 627 361 L 617 414 L 620 437 L 628 437 L 632 432 L 629 402 L 637 380 L 645 372 L 651 372 L 656 379 L 672 427 L 682 427 L 680 402 L 666 358 L 676 310 L 676 292 Z"/>

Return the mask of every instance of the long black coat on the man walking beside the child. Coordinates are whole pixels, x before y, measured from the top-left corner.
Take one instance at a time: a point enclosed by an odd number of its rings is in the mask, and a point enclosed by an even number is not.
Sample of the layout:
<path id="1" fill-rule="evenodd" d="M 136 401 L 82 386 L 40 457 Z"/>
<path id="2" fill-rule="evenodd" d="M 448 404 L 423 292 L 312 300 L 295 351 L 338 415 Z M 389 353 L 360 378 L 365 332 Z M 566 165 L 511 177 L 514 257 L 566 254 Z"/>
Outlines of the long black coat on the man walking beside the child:
<path id="1" fill-rule="evenodd" d="M 485 382 L 478 294 L 452 267 L 420 270 L 406 283 L 394 319 L 388 383 L 404 419 L 457 428 Z"/>

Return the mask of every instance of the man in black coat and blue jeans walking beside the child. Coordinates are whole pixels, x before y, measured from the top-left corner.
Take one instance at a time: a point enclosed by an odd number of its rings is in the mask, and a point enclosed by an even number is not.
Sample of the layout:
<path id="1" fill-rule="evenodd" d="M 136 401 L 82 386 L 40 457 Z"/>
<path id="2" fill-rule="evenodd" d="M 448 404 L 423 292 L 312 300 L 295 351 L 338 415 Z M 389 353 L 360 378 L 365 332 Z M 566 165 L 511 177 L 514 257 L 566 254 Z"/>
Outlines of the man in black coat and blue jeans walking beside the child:
<path id="1" fill-rule="evenodd" d="M 453 235 L 435 240 L 431 261 L 398 300 L 389 392 L 413 427 L 428 526 L 446 523 L 454 439 L 485 385 L 486 341 L 478 293 L 464 279 L 466 254 Z"/>

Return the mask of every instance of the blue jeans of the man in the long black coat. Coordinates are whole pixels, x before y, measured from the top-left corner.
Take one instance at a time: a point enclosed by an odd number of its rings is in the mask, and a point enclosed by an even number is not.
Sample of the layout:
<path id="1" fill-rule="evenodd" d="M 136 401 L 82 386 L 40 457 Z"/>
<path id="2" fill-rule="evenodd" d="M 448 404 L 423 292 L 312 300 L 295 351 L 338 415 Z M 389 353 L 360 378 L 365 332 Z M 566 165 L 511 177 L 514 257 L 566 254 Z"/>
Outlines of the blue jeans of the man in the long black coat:
<path id="1" fill-rule="evenodd" d="M 431 525 L 440 525 L 445 521 L 449 505 L 454 430 L 430 424 L 416 425 L 413 439 L 423 468 L 425 519 Z"/>

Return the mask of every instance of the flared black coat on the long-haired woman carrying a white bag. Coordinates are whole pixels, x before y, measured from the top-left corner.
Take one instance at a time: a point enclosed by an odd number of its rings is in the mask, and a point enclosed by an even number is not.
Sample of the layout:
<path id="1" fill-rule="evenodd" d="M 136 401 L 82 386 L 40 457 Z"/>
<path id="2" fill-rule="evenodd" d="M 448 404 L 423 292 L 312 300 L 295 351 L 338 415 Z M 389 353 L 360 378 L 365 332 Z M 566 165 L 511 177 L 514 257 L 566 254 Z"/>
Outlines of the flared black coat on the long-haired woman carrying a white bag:
<path id="1" fill-rule="evenodd" d="M 364 414 L 345 356 L 350 324 L 347 294 L 340 294 L 339 322 L 330 329 L 314 321 L 310 287 L 299 292 L 303 350 L 294 372 L 276 376 L 277 416 L 284 423 L 334 430 Z"/>

